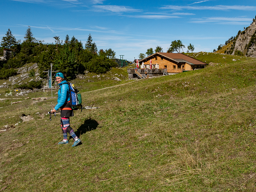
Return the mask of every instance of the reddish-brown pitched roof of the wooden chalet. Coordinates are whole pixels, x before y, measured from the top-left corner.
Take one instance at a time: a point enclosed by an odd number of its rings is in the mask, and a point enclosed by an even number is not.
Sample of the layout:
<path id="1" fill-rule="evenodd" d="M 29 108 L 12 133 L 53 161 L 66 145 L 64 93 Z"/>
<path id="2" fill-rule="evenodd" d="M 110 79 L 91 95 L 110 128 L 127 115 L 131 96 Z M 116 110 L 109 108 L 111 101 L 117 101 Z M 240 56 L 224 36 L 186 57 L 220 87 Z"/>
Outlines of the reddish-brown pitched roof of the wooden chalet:
<path id="1" fill-rule="evenodd" d="M 140 60 L 140 62 L 142 62 L 144 60 L 148 60 L 151 57 L 154 58 L 156 55 L 163 56 L 163 57 L 168 58 L 170 60 L 176 61 L 177 63 L 187 61 L 187 63 L 190 64 L 190 65 L 208 65 L 205 62 L 199 61 L 197 59 L 194 59 L 193 57 L 189 57 L 189 56 L 184 55 L 182 53 L 160 53 L 160 52 L 154 53 L 153 55 L 150 55 L 150 56 Z"/>

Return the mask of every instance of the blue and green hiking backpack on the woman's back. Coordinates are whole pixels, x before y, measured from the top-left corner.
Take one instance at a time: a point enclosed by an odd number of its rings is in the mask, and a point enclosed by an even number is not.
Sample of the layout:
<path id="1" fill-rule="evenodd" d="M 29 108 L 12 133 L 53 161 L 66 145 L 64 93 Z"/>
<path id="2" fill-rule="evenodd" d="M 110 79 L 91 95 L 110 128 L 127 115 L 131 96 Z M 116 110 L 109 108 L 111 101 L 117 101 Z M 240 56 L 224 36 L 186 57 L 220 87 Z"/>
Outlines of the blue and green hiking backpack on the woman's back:
<path id="1" fill-rule="evenodd" d="M 63 84 L 68 84 L 69 93 L 70 93 L 70 104 L 71 104 L 72 110 L 81 109 L 82 111 L 82 97 L 81 97 L 80 91 L 78 91 L 77 88 L 72 83 L 65 82 Z"/>

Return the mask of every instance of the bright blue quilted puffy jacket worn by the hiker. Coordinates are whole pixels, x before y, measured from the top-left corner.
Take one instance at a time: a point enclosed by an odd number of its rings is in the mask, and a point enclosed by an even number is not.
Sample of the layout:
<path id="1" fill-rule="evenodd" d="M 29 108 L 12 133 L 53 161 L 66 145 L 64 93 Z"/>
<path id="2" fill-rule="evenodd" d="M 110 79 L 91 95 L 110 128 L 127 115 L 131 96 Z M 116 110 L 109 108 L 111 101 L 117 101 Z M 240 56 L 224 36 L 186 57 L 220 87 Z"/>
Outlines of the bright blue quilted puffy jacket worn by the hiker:
<path id="1" fill-rule="evenodd" d="M 58 91 L 58 104 L 55 106 L 55 110 L 58 110 L 61 106 L 63 106 L 66 102 L 70 101 L 70 93 L 69 87 L 66 80 L 61 81 L 58 86 L 60 86 Z"/>

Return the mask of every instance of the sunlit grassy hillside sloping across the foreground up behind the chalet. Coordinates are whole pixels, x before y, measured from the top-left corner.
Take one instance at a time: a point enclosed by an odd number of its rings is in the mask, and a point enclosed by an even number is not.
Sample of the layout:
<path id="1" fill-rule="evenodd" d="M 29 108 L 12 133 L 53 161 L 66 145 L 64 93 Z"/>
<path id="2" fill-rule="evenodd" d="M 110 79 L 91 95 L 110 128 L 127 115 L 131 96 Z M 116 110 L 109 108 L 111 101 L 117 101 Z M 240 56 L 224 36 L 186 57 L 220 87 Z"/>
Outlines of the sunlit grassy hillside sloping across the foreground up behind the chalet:
<path id="1" fill-rule="evenodd" d="M 76 80 L 100 109 L 74 112 L 74 148 L 46 115 L 56 98 L 1 101 L 0 126 L 21 123 L 0 132 L 0 190 L 255 191 L 256 59 L 189 55 L 214 64 L 102 90 Z"/>

